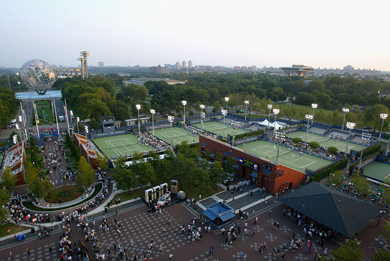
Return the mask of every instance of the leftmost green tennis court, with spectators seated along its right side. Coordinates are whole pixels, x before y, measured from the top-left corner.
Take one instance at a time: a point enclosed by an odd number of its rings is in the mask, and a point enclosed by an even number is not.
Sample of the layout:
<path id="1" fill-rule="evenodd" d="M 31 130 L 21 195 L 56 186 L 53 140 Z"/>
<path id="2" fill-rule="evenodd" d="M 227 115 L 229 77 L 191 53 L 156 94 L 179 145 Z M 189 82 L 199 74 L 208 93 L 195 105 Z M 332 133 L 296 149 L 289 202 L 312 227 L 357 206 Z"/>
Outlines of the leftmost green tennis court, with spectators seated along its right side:
<path id="1" fill-rule="evenodd" d="M 153 146 L 146 146 L 138 142 L 137 136 L 123 134 L 117 136 L 93 139 L 98 148 L 108 157 L 131 155 L 134 152 L 146 152 L 154 150 Z"/>

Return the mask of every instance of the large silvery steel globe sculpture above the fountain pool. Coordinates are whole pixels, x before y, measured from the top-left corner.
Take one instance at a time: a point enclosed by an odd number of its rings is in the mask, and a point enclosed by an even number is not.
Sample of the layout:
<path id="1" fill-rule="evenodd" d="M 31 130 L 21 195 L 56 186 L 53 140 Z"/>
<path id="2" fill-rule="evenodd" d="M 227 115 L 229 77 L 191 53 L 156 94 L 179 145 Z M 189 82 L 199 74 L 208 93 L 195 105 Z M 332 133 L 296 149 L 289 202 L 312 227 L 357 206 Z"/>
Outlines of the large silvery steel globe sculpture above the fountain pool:
<path id="1" fill-rule="evenodd" d="M 38 59 L 25 62 L 19 74 L 23 82 L 38 94 L 45 94 L 56 81 L 56 73 L 52 66 Z"/>

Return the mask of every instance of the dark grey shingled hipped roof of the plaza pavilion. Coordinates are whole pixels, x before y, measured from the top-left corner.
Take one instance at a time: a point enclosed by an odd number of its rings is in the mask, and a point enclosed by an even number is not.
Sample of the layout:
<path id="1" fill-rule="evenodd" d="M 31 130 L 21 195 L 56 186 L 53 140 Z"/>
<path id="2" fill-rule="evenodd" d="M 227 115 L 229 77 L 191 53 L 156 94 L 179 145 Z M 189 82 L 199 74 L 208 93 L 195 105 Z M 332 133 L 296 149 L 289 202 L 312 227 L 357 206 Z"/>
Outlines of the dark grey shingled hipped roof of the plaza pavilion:
<path id="1" fill-rule="evenodd" d="M 381 210 L 318 182 L 311 182 L 278 200 L 347 238 L 363 229 Z"/>

